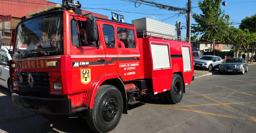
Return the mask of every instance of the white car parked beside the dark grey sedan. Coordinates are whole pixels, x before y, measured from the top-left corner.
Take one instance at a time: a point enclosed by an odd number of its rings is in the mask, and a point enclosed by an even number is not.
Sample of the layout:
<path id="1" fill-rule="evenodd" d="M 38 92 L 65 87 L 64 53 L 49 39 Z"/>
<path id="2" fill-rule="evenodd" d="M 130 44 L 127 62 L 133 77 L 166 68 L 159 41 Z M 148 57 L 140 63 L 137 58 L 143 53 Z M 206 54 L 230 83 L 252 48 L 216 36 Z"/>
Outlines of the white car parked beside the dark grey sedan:
<path id="1" fill-rule="evenodd" d="M 202 56 L 194 60 L 194 68 L 212 70 L 214 68 L 219 68 L 219 65 L 223 61 L 218 56 Z"/>

